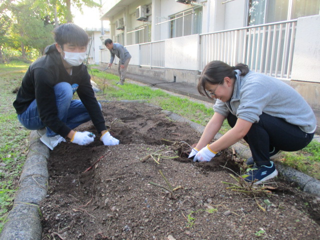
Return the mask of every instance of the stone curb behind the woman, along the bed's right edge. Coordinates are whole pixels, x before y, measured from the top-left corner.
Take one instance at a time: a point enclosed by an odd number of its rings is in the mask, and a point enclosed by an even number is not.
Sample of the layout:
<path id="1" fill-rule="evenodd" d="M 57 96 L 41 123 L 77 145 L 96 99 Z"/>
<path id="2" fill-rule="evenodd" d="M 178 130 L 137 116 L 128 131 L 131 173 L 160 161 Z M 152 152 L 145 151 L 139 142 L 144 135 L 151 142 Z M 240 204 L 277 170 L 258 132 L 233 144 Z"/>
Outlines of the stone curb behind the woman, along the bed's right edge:
<path id="1" fill-rule="evenodd" d="M 195 123 L 193 121 L 190 121 L 184 117 L 179 116 L 176 113 L 173 113 L 171 111 L 162 110 L 168 117 L 170 117 L 172 120 L 180 121 L 180 122 L 187 122 L 190 124 L 190 126 L 198 131 L 200 134 L 202 134 L 204 130 L 204 126 Z M 218 139 L 221 137 L 220 133 L 217 133 L 214 136 L 214 139 Z M 248 158 L 251 156 L 250 149 L 243 145 L 240 142 L 235 143 L 232 145 L 237 154 L 242 158 Z M 290 181 L 290 182 L 296 182 L 298 186 L 305 192 L 320 196 L 320 181 L 315 179 L 314 177 L 311 177 L 303 172 L 300 172 L 292 167 L 285 166 L 281 163 L 276 164 L 276 168 L 278 172 L 284 177 L 284 179 Z"/>

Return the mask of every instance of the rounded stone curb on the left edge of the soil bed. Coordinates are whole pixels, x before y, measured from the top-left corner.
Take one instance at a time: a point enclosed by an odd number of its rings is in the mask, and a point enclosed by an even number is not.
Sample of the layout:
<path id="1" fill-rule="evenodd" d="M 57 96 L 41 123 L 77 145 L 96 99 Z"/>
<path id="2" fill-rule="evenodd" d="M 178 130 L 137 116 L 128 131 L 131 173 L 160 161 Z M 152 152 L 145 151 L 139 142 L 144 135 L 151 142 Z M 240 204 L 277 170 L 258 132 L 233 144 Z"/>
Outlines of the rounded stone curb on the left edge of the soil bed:
<path id="1" fill-rule="evenodd" d="M 42 227 L 38 204 L 47 194 L 49 148 L 36 131 L 29 136 L 29 150 L 19 178 L 13 207 L 0 233 L 0 240 L 40 240 Z"/>

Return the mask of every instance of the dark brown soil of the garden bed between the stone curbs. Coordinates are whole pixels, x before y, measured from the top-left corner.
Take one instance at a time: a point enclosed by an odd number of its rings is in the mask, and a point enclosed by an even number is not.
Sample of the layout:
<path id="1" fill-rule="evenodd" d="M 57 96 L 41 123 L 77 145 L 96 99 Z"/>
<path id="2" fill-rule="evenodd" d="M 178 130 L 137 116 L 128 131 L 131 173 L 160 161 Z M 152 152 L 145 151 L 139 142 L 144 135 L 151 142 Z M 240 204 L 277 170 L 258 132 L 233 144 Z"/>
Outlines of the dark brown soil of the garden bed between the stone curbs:
<path id="1" fill-rule="evenodd" d="M 241 159 L 225 150 L 193 163 L 184 142 L 200 135 L 186 123 L 143 103 L 110 102 L 102 111 L 120 144 L 104 146 L 88 122 L 78 130 L 94 132 L 93 143 L 62 142 L 50 152 L 43 239 L 319 239 L 319 198 L 280 177 L 271 195 L 226 189 L 221 181 L 236 183 L 230 169 L 239 173 Z M 158 150 L 178 158 L 141 160 Z M 168 187 L 159 170 L 173 188 L 181 186 L 174 195 L 149 183 Z"/>

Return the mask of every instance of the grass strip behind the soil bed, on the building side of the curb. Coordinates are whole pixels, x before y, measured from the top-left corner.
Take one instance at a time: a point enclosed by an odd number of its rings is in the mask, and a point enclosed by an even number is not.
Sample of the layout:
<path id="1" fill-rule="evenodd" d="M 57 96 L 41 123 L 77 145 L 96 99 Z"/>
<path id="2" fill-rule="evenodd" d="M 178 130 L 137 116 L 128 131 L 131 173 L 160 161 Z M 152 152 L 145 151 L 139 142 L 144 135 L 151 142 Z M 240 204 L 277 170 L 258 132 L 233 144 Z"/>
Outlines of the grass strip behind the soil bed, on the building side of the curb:
<path id="1" fill-rule="evenodd" d="M 204 104 L 191 101 L 188 98 L 171 95 L 160 89 L 154 90 L 148 86 L 127 82 L 124 85 L 115 85 L 119 79 L 118 76 L 98 69 L 91 68 L 91 70 L 94 81 L 103 89 L 103 92 L 98 93 L 97 96 L 103 99 L 146 100 L 203 126 L 214 113 L 212 107 L 206 107 Z M 230 127 L 225 120 L 219 132 L 223 134 L 228 129 Z M 299 151 L 285 152 L 279 161 L 320 179 L 320 143 L 315 140 Z"/>

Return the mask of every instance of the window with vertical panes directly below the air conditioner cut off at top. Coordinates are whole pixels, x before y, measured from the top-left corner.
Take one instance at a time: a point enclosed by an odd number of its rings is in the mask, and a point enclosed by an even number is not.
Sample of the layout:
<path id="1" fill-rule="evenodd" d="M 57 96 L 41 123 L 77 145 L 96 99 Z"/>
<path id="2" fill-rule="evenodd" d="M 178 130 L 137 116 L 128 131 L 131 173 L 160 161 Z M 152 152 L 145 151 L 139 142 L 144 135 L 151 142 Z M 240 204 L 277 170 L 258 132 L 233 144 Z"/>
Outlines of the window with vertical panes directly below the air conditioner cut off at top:
<path id="1" fill-rule="evenodd" d="M 202 7 L 194 7 L 169 16 L 170 38 L 201 33 Z"/>

